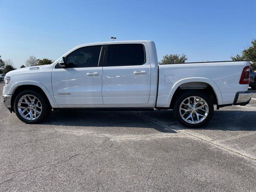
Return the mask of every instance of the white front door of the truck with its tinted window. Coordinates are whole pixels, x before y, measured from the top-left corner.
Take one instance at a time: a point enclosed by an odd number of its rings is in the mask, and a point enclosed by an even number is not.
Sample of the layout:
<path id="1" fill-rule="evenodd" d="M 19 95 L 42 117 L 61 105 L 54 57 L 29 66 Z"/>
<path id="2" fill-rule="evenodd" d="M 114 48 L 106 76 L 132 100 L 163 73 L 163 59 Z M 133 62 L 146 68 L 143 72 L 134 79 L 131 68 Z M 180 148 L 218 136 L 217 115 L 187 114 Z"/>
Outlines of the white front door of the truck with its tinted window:
<path id="1" fill-rule="evenodd" d="M 65 57 L 65 68 L 54 67 L 52 90 L 59 107 L 103 104 L 101 52 L 102 45 L 78 48 Z"/>

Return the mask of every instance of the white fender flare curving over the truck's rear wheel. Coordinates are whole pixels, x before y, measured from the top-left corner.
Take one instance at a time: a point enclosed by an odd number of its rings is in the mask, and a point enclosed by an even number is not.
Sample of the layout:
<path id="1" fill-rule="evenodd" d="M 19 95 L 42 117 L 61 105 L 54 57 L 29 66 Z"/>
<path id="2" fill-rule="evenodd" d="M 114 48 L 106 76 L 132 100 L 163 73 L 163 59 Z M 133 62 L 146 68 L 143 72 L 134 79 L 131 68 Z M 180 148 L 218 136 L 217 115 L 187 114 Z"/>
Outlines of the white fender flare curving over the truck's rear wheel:
<path id="1" fill-rule="evenodd" d="M 186 78 L 186 79 L 182 79 L 182 80 L 179 80 L 177 81 L 173 86 L 172 86 L 172 89 L 168 95 L 168 98 L 166 100 L 166 107 L 169 107 L 170 106 L 170 103 L 172 101 L 172 96 L 174 95 L 175 91 L 178 89 L 178 87 L 184 83 L 190 83 L 190 82 L 204 82 L 204 83 L 207 83 L 209 84 L 210 86 L 212 86 L 212 89 L 214 90 L 215 94 L 216 94 L 216 97 L 217 97 L 217 102 L 218 102 L 218 105 L 221 105 L 222 104 L 222 96 L 221 96 L 221 93 L 220 93 L 220 90 L 218 88 L 218 86 L 210 79 L 208 78 Z"/>

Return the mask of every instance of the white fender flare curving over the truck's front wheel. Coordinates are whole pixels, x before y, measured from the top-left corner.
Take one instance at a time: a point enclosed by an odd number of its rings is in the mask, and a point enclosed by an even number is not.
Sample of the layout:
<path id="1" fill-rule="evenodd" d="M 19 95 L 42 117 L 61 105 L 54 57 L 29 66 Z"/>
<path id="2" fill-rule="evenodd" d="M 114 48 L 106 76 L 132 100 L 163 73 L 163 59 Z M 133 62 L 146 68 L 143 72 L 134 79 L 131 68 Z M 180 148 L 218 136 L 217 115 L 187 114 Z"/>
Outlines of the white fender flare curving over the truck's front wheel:
<path id="1" fill-rule="evenodd" d="M 55 101 L 53 100 L 52 95 L 50 94 L 50 92 L 46 89 L 46 87 L 42 83 L 37 82 L 37 81 L 16 82 L 11 86 L 8 94 L 13 94 L 14 91 L 16 90 L 16 88 L 18 88 L 19 86 L 22 86 L 22 85 L 34 85 L 34 86 L 38 86 L 39 88 L 41 88 L 43 90 L 44 94 L 46 95 L 46 97 L 48 98 L 52 108 L 56 108 L 57 105 L 56 105 Z"/>

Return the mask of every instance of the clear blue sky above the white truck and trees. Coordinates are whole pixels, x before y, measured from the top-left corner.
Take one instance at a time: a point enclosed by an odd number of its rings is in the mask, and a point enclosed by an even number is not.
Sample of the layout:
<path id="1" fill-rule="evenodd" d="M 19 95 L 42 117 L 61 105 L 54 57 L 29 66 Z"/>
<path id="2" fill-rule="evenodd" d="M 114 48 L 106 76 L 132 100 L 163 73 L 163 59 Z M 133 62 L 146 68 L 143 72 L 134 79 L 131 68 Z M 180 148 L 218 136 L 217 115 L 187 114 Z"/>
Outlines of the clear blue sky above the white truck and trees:
<path id="1" fill-rule="evenodd" d="M 158 61 L 230 60 L 256 38 L 256 0 L 0 0 L 0 55 L 58 59 L 75 46 L 153 40 Z"/>

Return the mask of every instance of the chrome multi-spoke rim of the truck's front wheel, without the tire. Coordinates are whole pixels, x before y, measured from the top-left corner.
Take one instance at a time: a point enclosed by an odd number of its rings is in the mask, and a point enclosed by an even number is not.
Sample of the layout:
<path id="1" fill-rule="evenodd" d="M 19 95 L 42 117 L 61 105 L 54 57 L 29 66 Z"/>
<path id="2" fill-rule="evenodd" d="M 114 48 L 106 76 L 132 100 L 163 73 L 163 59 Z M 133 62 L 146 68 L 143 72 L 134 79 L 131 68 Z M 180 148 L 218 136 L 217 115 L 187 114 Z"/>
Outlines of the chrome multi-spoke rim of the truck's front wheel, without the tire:
<path id="1" fill-rule="evenodd" d="M 18 112 L 26 120 L 35 120 L 42 113 L 42 104 L 34 95 L 24 95 L 18 101 Z"/>

